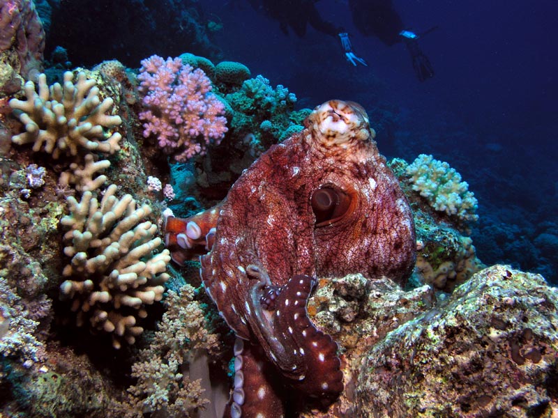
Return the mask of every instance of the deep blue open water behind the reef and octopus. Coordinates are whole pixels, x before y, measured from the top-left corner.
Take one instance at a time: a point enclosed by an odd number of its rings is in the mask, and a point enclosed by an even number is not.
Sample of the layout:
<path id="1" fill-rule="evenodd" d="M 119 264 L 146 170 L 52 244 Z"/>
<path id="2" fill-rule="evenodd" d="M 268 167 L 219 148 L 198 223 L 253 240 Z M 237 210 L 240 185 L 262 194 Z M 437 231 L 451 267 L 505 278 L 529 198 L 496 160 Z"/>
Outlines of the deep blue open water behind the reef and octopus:
<path id="1" fill-rule="evenodd" d="M 66 10 L 68 3 L 61 3 Z M 558 283 L 557 1 L 393 1 L 409 29 L 439 26 L 419 40 L 436 72 L 423 83 L 404 45 L 388 47 L 356 30 L 347 1 L 320 0 L 317 8 L 347 29 L 368 67 L 352 66 L 338 39 L 312 28 L 303 38 L 285 36 L 248 0 L 76 3 L 93 5 L 90 23 L 114 31 L 91 36 L 91 26 L 53 23 L 73 36 L 89 31 L 91 40 L 63 45 L 74 65 L 116 58 L 138 67 L 151 54 L 193 52 L 248 65 L 252 75 L 296 93 L 301 107 L 331 98 L 360 102 L 386 156 L 431 153 L 469 183 L 479 201 L 473 238 L 484 263 L 512 263 Z M 201 23 L 223 24 L 209 34 L 211 47 L 183 36 L 181 7 L 195 8 Z M 51 34 L 47 48 L 63 44 L 63 31 Z"/>

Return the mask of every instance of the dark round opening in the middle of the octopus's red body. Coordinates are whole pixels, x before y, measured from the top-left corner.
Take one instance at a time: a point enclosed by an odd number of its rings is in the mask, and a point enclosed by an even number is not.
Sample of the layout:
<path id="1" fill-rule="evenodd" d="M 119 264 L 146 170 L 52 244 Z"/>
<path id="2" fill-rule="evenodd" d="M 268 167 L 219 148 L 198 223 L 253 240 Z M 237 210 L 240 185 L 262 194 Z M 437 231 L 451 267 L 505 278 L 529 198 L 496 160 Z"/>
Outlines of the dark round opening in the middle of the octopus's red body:
<path id="1" fill-rule="evenodd" d="M 340 221 L 352 211 L 354 199 L 334 187 L 322 187 L 312 193 L 310 204 L 316 217 L 316 227 Z"/>

